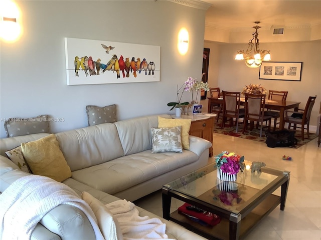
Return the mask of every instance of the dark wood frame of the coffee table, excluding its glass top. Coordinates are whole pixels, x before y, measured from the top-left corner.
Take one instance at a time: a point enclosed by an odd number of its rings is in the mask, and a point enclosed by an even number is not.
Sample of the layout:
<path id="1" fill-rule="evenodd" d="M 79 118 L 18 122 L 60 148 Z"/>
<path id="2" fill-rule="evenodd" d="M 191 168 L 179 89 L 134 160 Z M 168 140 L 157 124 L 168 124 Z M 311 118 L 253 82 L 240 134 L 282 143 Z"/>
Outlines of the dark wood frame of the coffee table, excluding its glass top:
<path id="1" fill-rule="evenodd" d="M 213 170 L 216 170 L 214 165 L 214 163 L 211 163 L 196 170 L 195 172 L 204 172 L 205 175 Z M 186 228 L 208 239 L 234 240 L 244 238 L 248 231 L 252 229 L 261 218 L 269 214 L 276 206 L 280 204 L 281 210 L 284 210 L 285 207 L 290 172 L 281 171 L 269 167 L 262 167 L 261 169 L 262 172 L 276 175 L 277 177 L 261 190 L 259 190 L 258 194 L 255 194 L 255 196 L 252 197 L 251 200 L 246 202 L 246 206 L 240 211 L 224 209 L 218 205 L 201 200 L 197 196 L 179 191 L 171 185 L 173 182 L 175 182 L 175 180 L 168 184 L 165 184 L 162 188 L 163 217 L 165 219 L 177 222 L 180 225 L 185 226 Z M 256 173 L 254 172 L 251 174 Z M 280 196 L 272 194 L 279 187 L 281 187 Z M 222 220 L 218 225 L 214 227 L 208 227 L 201 226 L 200 224 L 188 219 L 186 216 L 178 213 L 178 210 L 170 214 L 172 197 L 196 205 L 204 210 L 211 211 L 219 215 Z M 255 214 L 253 213 L 254 208 L 256 210 Z M 260 213 L 258 214 L 257 212 Z M 246 216 L 248 217 L 246 218 Z"/>

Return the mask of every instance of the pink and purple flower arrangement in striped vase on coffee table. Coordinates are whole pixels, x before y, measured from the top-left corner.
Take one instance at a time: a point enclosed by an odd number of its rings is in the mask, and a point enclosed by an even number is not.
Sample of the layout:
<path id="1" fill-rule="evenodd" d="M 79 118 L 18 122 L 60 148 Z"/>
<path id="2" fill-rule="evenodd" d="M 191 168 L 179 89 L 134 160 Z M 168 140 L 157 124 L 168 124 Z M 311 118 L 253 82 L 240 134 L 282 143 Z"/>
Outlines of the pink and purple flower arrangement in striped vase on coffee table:
<path id="1" fill-rule="evenodd" d="M 217 178 L 223 181 L 235 181 L 237 173 L 243 172 L 244 156 L 234 152 L 223 151 L 214 157 L 217 167 Z"/>

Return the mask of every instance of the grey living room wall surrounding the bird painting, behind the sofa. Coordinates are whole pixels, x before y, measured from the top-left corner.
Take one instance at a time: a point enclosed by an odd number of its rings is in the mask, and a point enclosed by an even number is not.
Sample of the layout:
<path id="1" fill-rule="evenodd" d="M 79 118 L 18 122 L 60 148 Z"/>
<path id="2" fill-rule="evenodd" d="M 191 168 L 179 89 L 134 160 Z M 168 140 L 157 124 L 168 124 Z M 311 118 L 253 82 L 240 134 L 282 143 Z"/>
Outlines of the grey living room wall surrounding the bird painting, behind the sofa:
<path id="1" fill-rule="evenodd" d="M 1 137 L 7 117 L 49 114 L 52 132 L 87 125 L 85 106 L 117 104 L 117 118 L 172 113 L 177 84 L 201 79 L 205 10 L 171 1 L 17 1 L 24 34 L 1 42 Z M 190 33 L 189 51 L 181 56 L 177 35 Z M 67 85 L 64 37 L 161 46 L 161 81 Z M 183 100 L 191 101 L 190 93 Z M 174 114 L 174 113 L 172 113 Z"/>

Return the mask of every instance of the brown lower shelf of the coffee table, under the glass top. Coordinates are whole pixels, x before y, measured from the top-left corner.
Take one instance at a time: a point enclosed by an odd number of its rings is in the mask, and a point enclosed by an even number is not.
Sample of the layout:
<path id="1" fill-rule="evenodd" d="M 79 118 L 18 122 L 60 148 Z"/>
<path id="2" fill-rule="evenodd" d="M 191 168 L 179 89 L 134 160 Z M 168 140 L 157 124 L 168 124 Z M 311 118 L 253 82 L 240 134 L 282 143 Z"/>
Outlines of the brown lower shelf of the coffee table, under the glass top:
<path id="1" fill-rule="evenodd" d="M 259 205 L 257 205 L 240 222 L 240 236 L 237 239 L 243 239 L 248 231 L 254 227 L 262 217 L 269 214 L 281 202 L 280 196 L 269 195 Z M 219 215 L 219 213 L 214 212 Z M 208 238 L 208 239 L 230 239 L 229 237 L 229 219 L 222 218 L 221 222 L 213 227 L 203 226 L 189 219 L 187 216 L 174 211 L 170 214 L 170 220 Z"/>

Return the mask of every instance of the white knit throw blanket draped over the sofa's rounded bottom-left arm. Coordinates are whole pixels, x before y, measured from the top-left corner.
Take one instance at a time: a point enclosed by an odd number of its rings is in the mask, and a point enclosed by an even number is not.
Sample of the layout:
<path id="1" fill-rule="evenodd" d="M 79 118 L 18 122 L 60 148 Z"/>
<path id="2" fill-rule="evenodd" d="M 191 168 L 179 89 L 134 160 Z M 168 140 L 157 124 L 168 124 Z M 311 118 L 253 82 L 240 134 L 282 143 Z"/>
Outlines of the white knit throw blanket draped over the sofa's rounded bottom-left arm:
<path id="1" fill-rule="evenodd" d="M 82 210 L 92 224 L 96 239 L 104 239 L 94 212 L 73 189 L 39 175 L 21 177 L 0 194 L 0 239 L 30 239 L 40 219 L 62 203 Z"/>

